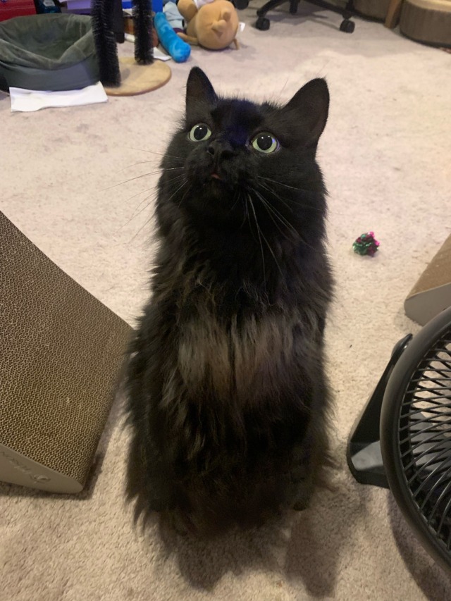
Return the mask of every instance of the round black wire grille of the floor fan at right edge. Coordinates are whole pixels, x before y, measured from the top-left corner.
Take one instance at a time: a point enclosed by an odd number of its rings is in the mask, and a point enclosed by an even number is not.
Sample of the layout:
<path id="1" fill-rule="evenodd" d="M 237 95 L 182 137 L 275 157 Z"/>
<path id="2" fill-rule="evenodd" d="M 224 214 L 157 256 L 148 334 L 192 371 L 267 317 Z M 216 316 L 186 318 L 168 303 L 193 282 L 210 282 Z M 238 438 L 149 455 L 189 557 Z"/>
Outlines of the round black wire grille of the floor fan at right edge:
<path id="1" fill-rule="evenodd" d="M 429 350 L 404 392 L 401 463 L 422 519 L 451 550 L 451 328 Z"/>

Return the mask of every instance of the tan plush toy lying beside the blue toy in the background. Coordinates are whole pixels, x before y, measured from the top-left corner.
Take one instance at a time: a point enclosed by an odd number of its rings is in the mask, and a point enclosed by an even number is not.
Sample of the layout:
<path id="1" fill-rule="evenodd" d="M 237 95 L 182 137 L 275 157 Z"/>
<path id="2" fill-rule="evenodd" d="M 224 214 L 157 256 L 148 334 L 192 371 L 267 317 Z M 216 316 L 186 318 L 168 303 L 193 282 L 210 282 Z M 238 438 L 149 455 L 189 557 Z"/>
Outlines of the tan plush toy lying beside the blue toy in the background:
<path id="1" fill-rule="evenodd" d="M 239 21 L 229 0 L 178 0 L 178 11 L 185 19 L 185 33 L 178 35 L 190 44 L 209 50 L 222 50 L 236 39 Z"/>

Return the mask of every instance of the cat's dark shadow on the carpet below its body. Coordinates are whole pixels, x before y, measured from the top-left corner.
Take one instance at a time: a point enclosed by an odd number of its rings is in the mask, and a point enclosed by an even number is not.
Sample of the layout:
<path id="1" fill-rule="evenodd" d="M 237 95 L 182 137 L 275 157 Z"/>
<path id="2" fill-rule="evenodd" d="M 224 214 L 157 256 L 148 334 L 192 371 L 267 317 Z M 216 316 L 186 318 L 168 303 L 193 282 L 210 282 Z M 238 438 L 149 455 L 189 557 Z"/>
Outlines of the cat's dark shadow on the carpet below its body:
<path id="1" fill-rule="evenodd" d="M 330 598 L 342 552 L 353 544 L 352 533 L 364 516 L 364 488 L 352 481 L 344 465 L 334 471 L 330 485 L 316 492 L 309 509 L 251 531 L 230 531 L 205 541 L 179 535 L 160 520 L 161 554 L 175 557 L 185 580 L 201 590 L 214 590 L 226 574 L 269 571 L 276 586 L 288 581 L 297 588 L 303 585 L 311 597 Z M 145 536 L 143 543 L 153 546 Z"/>

